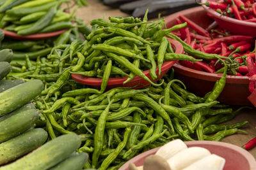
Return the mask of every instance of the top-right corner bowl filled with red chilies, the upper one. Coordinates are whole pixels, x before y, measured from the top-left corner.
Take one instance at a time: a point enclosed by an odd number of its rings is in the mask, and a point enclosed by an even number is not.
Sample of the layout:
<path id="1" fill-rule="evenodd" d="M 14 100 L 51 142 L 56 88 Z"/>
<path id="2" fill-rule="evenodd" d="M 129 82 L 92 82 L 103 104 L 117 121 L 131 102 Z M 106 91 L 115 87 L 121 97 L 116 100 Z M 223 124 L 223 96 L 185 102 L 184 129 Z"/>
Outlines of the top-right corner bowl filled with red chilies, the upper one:
<path id="1" fill-rule="evenodd" d="M 203 8 L 227 31 L 256 36 L 256 4 L 241 0 L 202 0 Z"/>

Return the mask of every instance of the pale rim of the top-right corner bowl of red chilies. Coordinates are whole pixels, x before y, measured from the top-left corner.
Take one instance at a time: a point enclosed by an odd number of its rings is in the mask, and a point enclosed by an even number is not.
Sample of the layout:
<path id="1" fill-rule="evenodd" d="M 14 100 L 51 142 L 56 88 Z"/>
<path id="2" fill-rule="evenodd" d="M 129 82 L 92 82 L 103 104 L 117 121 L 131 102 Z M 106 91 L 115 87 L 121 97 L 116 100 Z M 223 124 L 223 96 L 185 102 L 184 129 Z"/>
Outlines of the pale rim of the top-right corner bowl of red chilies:
<path id="1" fill-rule="evenodd" d="M 202 0 L 202 3 L 205 3 L 205 2 L 206 2 L 206 0 Z M 244 20 L 237 20 L 236 18 L 231 18 L 231 17 L 227 17 L 225 15 L 221 15 L 220 13 L 212 10 L 212 8 L 209 8 L 208 6 L 205 6 L 204 4 L 202 5 L 202 7 L 204 8 L 205 11 L 207 11 L 207 13 L 210 13 L 211 15 L 213 15 L 214 17 L 216 17 L 220 20 L 225 20 L 226 22 L 232 22 L 233 24 L 239 24 L 239 25 L 250 26 L 250 27 L 256 28 L 256 23 L 247 22 Z"/>

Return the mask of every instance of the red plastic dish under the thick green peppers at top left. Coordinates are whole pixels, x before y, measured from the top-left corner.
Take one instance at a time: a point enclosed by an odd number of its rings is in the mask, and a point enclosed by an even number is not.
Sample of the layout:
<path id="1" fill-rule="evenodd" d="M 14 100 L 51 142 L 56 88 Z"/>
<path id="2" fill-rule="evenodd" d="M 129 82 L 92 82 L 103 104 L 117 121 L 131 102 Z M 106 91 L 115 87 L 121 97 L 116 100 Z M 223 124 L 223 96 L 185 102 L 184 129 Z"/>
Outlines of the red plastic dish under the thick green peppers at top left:
<path id="1" fill-rule="evenodd" d="M 6 31 L 4 29 L 1 29 L 4 32 L 5 37 L 9 37 L 12 39 L 19 39 L 19 40 L 40 40 L 40 39 L 45 39 L 45 38 L 51 38 L 54 36 L 58 36 L 62 34 L 63 32 L 67 31 L 68 29 L 61 29 L 59 31 L 54 31 L 54 32 L 47 32 L 47 33 L 42 33 L 42 34 L 31 34 L 28 36 L 21 36 L 17 35 L 16 32 L 12 31 Z"/>

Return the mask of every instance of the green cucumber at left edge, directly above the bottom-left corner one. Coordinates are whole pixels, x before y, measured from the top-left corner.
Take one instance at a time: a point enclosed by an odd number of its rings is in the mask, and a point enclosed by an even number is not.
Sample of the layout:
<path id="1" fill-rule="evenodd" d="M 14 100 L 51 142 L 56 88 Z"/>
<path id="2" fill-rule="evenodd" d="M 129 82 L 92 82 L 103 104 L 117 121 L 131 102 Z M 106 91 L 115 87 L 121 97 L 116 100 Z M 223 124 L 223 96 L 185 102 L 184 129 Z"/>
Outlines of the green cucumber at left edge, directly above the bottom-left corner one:
<path id="1" fill-rule="evenodd" d="M 47 139 L 47 132 L 42 128 L 31 129 L 0 144 L 0 165 L 15 160 L 26 153 L 42 146 Z"/>

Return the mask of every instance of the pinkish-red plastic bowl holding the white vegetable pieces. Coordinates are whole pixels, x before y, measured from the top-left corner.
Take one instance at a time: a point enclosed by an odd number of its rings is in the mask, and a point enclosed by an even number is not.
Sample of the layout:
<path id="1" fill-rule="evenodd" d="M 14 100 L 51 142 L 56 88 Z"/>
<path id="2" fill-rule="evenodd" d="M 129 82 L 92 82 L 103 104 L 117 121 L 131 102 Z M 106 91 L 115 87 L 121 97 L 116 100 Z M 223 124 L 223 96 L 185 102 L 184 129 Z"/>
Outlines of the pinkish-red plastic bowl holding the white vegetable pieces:
<path id="1" fill-rule="evenodd" d="M 229 143 L 218 142 L 218 141 L 186 141 L 188 147 L 199 146 L 206 148 L 211 153 L 223 157 L 226 162 L 223 170 L 255 170 L 256 162 L 254 157 L 244 150 L 243 148 L 232 145 Z M 159 150 L 154 148 L 147 152 L 141 153 L 136 157 L 126 162 L 119 170 L 129 170 L 128 166 L 130 163 L 134 163 L 136 166 L 142 166 L 146 157 L 153 155 Z"/>

